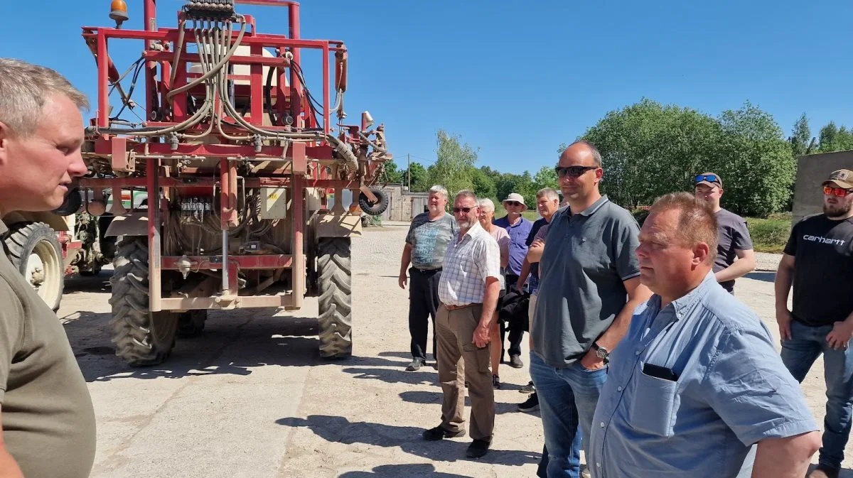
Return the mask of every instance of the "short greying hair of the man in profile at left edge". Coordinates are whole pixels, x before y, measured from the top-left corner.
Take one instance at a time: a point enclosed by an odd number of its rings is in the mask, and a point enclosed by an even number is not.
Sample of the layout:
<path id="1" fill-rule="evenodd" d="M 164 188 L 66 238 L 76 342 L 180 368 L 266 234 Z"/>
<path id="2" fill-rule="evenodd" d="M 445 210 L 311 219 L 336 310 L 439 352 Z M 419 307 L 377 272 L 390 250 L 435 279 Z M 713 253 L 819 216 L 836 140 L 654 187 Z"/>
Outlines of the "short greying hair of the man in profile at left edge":
<path id="1" fill-rule="evenodd" d="M 65 95 L 81 110 L 89 108 L 86 95 L 59 72 L 13 58 L 0 58 L 0 123 L 17 136 L 32 135 L 50 95 Z"/>

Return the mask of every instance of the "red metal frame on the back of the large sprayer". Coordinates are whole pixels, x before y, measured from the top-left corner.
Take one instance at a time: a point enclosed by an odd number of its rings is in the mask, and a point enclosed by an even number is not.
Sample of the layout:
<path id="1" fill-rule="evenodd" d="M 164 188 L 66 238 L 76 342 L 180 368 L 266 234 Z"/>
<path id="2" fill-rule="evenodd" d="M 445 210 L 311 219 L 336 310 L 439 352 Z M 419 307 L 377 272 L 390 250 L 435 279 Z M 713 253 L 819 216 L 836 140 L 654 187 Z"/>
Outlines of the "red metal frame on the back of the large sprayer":
<path id="1" fill-rule="evenodd" d="M 249 84 L 235 85 L 235 97 L 249 98 L 249 115 L 244 118 L 249 124 L 263 127 L 265 130 L 291 131 L 290 126 L 264 125 L 264 67 L 276 67 L 278 69 L 277 86 L 272 89 L 271 95 L 275 95 L 276 112 L 281 116 L 285 113 L 293 118 L 293 128 L 297 131 L 304 129 L 318 130 L 319 124 L 314 118 L 313 107 L 305 96 L 303 85 L 293 62 L 301 65 L 301 49 L 319 49 L 322 52 L 322 138 L 312 142 L 291 142 L 288 147 L 260 146 L 235 143 L 224 137 L 220 137 L 218 144 L 206 143 L 184 143 L 177 145 L 160 141 L 136 141 L 132 134 L 128 136 L 116 136 L 101 132 L 94 138 L 94 154 L 101 157 L 112 158 L 114 170 L 131 172 L 131 176 L 119 176 L 114 178 L 87 178 L 80 181 L 81 187 L 89 187 L 96 192 L 103 188 L 112 187 L 114 197 L 120 198 L 122 187 L 145 187 L 148 190 L 148 245 L 149 245 L 149 292 L 152 311 L 185 308 L 224 308 L 224 307 L 265 307 L 272 305 L 287 306 L 288 308 L 299 308 L 302 305 L 302 293 L 285 294 L 276 297 L 237 297 L 237 279 L 240 270 L 260 270 L 275 268 L 291 269 L 291 284 L 293 291 L 305 291 L 305 254 L 303 254 L 305 240 L 305 217 L 303 215 L 305 187 L 322 188 L 323 192 L 334 190 L 340 193 L 342 189 L 349 188 L 357 194 L 359 187 L 369 185 L 375 180 L 380 162 L 371 161 L 363 171 L 366 176 L 357 177 L 356 172 L 350 171 L 346 179 L 328 176 L 325 166 L 331 164 L 335 158 L 334 147 L 327 139 L 331 133 L 330 88 L 329 88 L 329 60 L 330 51 L 345 58 L 346 48 L 344 43 L 338 40 L 311 40 L 300 36 L 299 27 L 299 3 L 288 0 L 236 0 L 235 3 L 243 5 L 276 6 L 287 8 L 288 34 L 270 35 L 260 34 L 257 31 L 256 20 L 251 15 L 244 15 L 246 20 L 246 32 L 241 39 L 241 45 L 249 47 L 249 55 L 235 55 L 229 59 L 233 65 L 249 66 L 249 74 L 228 74 L 228 79 L 233 81 L 246 81 Z M 92 53 L 96 56 L 97 82 L 98 82 L 98 107 L 96 118 L 92 124 L 101 128 L 110 127 L 110 105 L 109 89 L 111 82 L 119 78 L 118 70 L 108 53 L 108 45 L 111 40 L 142 40 L 145 49 L 142 52 L 144 65 L 144 95 L 146 112 L 149 114 L 156 111 L 165 111 L 163 118 L 147 118 L 142 127 L 168 127 L 173 124 L 182 123 L 190 117 L 187 108 L 187 96 L 175 95 L 169 101 L 167 94 L 174 89 L 182 88 L 184 85 L 199 78 L 200 74 L 189 72 L 189 64 L 200 62 L 199 55 L 190 54 L 186 51 L 186 45 L 196 42 L 195 33 L 192 30 L 183 32 L 183 51 L 176 64 L 172 64 L 175 58 L 174 46 L 180 35 L 180 28 L 159 28 L 156 22 L 157 9 L 156 0 L 143 0 L 143 25 L 144 30 L 124 30 L 108 27 L 83 28 L 83 37 L 89 44 Z M 183 12 L 177 13 L 178 23 L 184 19 Z M 181 26 L 183 28 L 183 24 Z M 233 36 L 236 37 L 234 32 Z M 262 49 L 274 49 L 277 56 L 264 57 Z M 170 51 L 171 50 L 171 51 Z M 285 53 L 292 54 L 293 60 L 288 60 Z M 335 64 L 336 68 L 345 68 L 345 65 Z M 174 84 L 169 84 L 171 72 L 175 71 Z M 286 71 L 289 70 L 289 76 Z M 158 79 L 158 77 L 160 79 Z M 289 86 L 288 86 L 289 85 Z M 203 86 L 198 89 L 190 89 L 189 95 L 203 95 Z M 160 108 L 162 105 L 171 106 L 171 110 Z M 234 118 L 223 118 L 223 122 L 234 122 Z M 223 124 L 223 129 L 229 134 L 245 135 L 246 131 L 240 128 L 229 127 Z M 184 131 L 187 134 L 198 134 L 206 130 L 206 124 L 198 124 L 194 128 Z M 364 142 L 359 136 L 357 126 L 345 126 L 344 133 L 339 136 L 341 141 L 363 147 Z M 334 138 L 333 138 L 334 139 Z M 366 151 L 366 149 L 363 149 Z M 146 168 L 144 176 L 133 176 L 133 168 L 129 161 L 128 153 L 135 154 L 136 162 L 144 161 Z M 193 158 L 218 158 L 218 168 L 215 170 L 200 170 L 197 167 L 184 167 L 180 174 L 169 164 L 174 164 L 176 159 Z M 282 161 L 282 159 L 286 161 Z M 293 254 L 290 255 L 258 255 L 258 254 L 230 254 L 223 251 L 223 256 L 190 256 L 189 261 L 193 264 L 191 270 L 223 269 L 223 297 L 162 297 L 161 271 L 177 270 L 177 262 L 188 259 L 183 256 L 163 256 L 160 245 L 160 227 L 167 222 L 170 210 L 166 199 L 160 200 L 160 193 L 191 189 L 193 192 L 207 187 L 211 191 L 219 187 L 221 204 L 220 217 L 223 231 L 233 227 L 237 221 L 237 163 L 241 160 L 254 161 L 281 161 L 281 167 L 274 171 L 264 173 L 261 176 L 247 176 L 242 179 L 244 187 L 289 187 L 292 194 L 293 210 Z M 286 166 L 285 164 L 289 164 Z M 310 164 L 310 166 L 309 166 Z M 326 198 L 322 197 L 322 205 L 325 207 Z M 339 199 L 336 201 L 339 204 Z M 223 239 L 224 240 L 224 239 Z M 220 300 L 223 299 L 223 300 Z M 230 305 L 229 305 L 230 304 Z"/>

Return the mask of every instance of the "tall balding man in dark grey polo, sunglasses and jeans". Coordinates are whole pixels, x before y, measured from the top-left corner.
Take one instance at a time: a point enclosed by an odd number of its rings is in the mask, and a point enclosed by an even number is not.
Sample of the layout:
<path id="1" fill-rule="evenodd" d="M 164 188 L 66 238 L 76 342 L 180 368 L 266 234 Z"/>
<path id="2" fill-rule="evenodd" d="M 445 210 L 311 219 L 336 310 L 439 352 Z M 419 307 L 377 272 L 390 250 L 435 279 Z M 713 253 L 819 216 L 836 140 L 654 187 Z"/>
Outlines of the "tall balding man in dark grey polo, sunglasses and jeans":
<path id="1" fill-rule="evenodd" d="M 577 141 L 560 155 L 556 171 L 569 205 L 545 234 L 531 332 L 549 478 L 579 475 L 581 435 L 589 437 L 609 352 L 651 296 L 634 254 L 640 227 L 599 192 L 601 153 Z"/>

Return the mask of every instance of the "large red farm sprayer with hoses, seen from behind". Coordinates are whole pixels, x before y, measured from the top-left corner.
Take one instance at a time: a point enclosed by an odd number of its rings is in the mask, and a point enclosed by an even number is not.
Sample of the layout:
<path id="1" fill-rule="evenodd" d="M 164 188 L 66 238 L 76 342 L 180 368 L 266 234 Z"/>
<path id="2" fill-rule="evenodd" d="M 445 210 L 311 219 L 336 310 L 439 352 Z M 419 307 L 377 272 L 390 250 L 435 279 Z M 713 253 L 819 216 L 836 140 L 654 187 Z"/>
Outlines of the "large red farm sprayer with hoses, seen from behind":
<path id="1" fill-rule="evenodd" d="M 130 366 L 160 364 L 176 337 L 203 331 L 209 310 L 296 311 L 317 297 L 319 354 L 351 355 L 361 216 L 339 201 L 328 208 L 327 195 L 350 189 L 361 210 L 381 214 L 387 197 L 373 185 L 392 154 L 369 112 L 344 122 L 345 43 L 301 37 L 296 2 L 188 1 L 174 27 L 157 26 L 155 0 L 142 3 L 143 30 L 122 27 L 123 0 L 111 3 L 115 26 L 83 27 L 97 112 L 78 187 L 81 208 L 108 215 L 103 234 L 116 238 L 115 353 Z M 241 5 L 286 9 L 287 33 L 261 32 Z M 124 74 L 108 49 L 119 41 L 142 45 Z M 303 66 L 307 49 L 321 65 Z M 321 86 L 309 88 L 309 72 Z M 146 204 L 106 199 L 129 191 Z"/>

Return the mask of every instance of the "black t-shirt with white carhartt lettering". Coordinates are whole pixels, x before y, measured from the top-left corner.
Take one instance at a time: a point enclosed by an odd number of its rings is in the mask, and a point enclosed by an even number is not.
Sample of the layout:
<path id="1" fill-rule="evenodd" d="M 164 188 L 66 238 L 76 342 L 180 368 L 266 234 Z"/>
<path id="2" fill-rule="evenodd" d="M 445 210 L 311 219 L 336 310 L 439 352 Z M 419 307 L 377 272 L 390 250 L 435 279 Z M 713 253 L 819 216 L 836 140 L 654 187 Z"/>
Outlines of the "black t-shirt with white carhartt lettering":
<path id="1" fill-rule="evenodd" d="M 806 216 L 791 229 L 794 320 L 833 325 L 853 312 L 853 218 Z"/>

